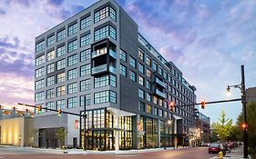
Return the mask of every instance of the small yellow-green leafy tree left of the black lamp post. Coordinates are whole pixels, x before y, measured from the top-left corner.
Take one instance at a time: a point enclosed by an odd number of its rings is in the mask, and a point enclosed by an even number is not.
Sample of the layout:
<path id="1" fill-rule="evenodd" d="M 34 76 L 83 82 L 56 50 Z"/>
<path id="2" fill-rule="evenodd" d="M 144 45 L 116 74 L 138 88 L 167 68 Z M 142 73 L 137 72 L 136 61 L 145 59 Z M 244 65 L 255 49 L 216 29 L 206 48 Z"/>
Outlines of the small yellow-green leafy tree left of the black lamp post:
<path id="1" fill-rule="evenodd" d="M 212 124 L 213 132 L 219 134 L 219 138 L 222 141 L 230 139 L 230 134 L 234 130 L 234 126 L 232 125 L 232 119 L 225 118 L 226 114 L 222 110 L 219 118 L 219 122 Z"/>

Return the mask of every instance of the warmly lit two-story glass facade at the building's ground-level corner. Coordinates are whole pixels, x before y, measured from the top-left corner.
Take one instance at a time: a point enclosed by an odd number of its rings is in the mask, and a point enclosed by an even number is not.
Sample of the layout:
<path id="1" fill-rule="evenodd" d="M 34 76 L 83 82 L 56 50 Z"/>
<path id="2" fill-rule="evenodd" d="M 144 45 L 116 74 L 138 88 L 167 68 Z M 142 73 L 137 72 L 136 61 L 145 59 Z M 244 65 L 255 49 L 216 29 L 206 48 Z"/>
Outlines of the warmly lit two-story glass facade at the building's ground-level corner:
<path id="1" fill-rule="evenodd" d="M 88 150 L 115 150 L 115 135 L 119 135 L 119 149 L 131 149 L 132 118 L 123 116 L 118 118 L 110 114 L 107 109 L 87 111 L 86 146 Z M 81 145 L 84 146 L 84 124 L 81 124 Z M 117 130 L 118 129 L 118 130 Z"/>

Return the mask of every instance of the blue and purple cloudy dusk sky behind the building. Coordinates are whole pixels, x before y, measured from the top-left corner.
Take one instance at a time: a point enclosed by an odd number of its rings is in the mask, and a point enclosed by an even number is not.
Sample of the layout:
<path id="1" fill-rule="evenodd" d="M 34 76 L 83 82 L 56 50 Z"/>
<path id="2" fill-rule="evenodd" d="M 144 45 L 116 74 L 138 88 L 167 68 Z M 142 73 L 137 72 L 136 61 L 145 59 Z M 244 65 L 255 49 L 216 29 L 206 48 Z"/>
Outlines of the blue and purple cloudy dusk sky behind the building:
<path id="1" fill-rule="evenodd" d="M 0 1 L 0 104 L 34 104 L 35 37 L 97 0 Z M 197 87 L 198 102 L 239 98 L 241 65 L 246 88 L 256 82 L 256 1 L 117 0 L 139 32 Z M 236 121 L 241 102 L 207 104 L 200 112 Z"/>

